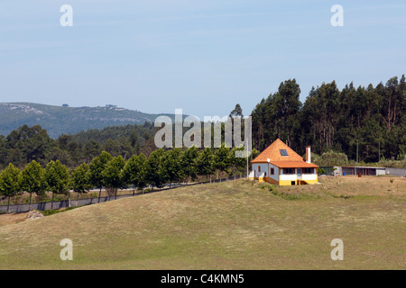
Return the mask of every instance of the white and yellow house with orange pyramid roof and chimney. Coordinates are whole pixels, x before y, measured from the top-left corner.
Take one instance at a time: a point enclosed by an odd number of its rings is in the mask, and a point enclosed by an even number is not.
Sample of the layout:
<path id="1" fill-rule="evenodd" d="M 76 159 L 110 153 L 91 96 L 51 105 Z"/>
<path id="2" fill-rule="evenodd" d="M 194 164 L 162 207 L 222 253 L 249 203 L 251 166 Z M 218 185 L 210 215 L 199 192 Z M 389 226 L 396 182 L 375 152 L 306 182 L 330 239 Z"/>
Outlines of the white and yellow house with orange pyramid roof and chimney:
<path id="1" fill-rule="evenodd" d="M 310 162 L 310 147 L 306 148 L 304 160 L 281 139 L 276 139 L 251 164 L 251 180 L 279 185 L 318 183 L 318 166 Z"/>

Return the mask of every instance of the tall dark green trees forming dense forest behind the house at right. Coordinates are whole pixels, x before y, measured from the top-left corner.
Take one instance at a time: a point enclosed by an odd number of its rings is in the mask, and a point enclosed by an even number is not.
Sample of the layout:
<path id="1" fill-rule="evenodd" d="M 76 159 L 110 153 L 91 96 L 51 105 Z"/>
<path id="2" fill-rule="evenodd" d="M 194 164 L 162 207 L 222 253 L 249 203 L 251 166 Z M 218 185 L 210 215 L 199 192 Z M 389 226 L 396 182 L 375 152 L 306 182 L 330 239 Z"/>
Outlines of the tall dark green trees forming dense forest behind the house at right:
<path id="1" fill-rule="evenodd" d="M 345 153 L 356 162 L 403 160 L 406 155 L 406 80 L 401 76 L 366 88 L 353 83 L 341 91 L 335 81 L 313 87 L 305 103 L 295 79 L 256 105 L 253 145 L 263 150 L 275 139 L 303 154 Z M 358 157 L 357 157 L 358 156 Z"/>

